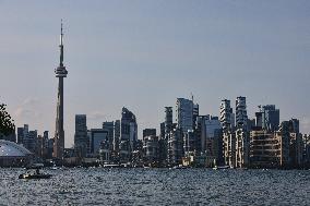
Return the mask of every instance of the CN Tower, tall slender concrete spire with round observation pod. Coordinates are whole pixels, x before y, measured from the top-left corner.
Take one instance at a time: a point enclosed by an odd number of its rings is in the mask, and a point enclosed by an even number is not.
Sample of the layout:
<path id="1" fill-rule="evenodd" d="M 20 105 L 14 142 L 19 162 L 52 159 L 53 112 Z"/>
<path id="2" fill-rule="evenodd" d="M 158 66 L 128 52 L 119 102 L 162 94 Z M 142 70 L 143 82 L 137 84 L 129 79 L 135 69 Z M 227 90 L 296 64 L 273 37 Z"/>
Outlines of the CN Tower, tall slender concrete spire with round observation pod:
<path id="1" fill-rule="evenodd" d="M 53 137 L 53 153 L 52 157 L 57 159 L 63 159 L 64 149 L 64 130 L 63 130 L 63 77 L 67 77 L 68 71 L 63 65 L 63 33 L 61 21 L 60 33 L 60 62 L 57 69 L 55 69 L 56 77 L 58 77 L 58 100 L 57 100 L 57 114 L 56 114 L 56 130 Z"/>

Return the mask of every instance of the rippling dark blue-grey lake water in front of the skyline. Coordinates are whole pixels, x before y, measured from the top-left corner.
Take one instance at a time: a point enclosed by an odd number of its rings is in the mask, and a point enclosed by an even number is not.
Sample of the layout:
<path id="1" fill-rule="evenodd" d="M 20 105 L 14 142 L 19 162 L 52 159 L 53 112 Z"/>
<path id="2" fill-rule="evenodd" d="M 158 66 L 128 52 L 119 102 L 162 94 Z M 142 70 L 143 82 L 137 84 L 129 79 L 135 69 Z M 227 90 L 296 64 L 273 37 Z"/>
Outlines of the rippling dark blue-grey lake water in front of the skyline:
<path id="1" fill-rule="evenodd" d="M 309 170 L 0 168 L 0 205 L 310 205 Z"/>

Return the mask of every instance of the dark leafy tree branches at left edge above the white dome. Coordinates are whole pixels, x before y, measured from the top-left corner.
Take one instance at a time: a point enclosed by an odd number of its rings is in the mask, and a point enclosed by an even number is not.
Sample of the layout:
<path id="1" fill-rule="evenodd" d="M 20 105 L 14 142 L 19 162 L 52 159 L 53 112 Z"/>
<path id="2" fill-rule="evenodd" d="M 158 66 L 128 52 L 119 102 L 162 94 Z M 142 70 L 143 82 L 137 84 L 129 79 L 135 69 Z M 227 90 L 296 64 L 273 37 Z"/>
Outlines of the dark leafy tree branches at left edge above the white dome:
<path id="1" fill-rule="evenodd" d="M 5 107 L 7 105 L 0 104 L 0 134 L 3 134 L 4 136 L 15 132 L 14 120 L 12 120 Z"/>

